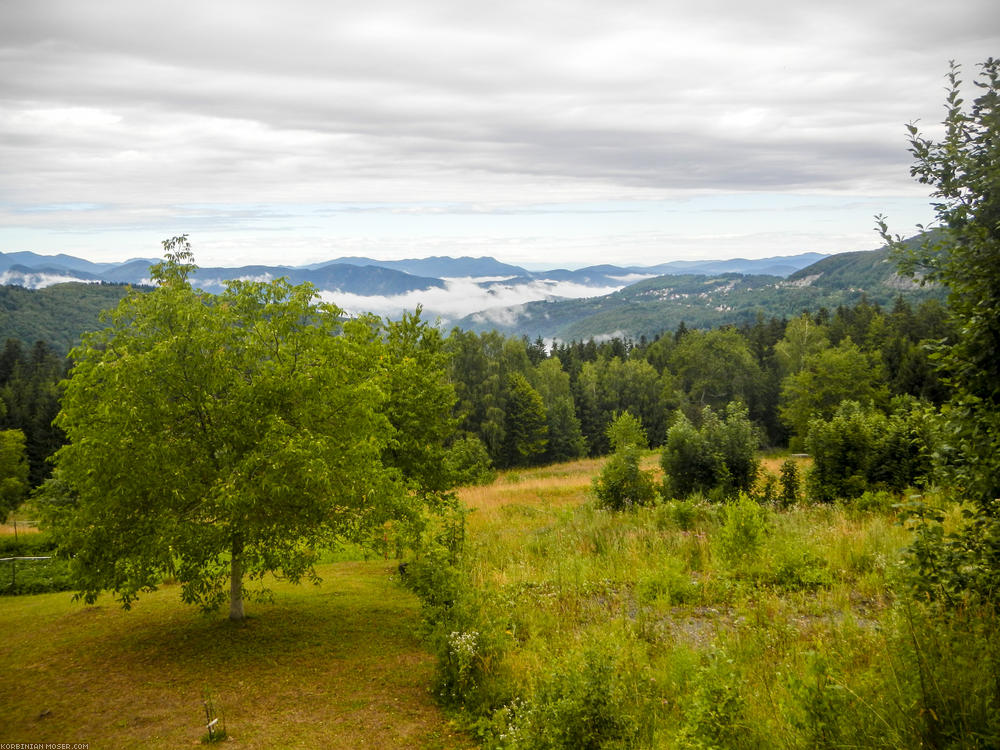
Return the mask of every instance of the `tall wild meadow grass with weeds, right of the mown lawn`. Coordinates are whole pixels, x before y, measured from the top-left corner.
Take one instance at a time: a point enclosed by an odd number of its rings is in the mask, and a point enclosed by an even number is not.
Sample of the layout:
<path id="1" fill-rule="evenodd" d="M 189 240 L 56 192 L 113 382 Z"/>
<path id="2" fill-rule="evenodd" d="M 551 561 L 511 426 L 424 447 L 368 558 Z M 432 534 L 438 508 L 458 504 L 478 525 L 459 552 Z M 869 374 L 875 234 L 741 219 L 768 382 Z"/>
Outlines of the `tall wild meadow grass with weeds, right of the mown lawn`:
<path id="1" fill-rule="evenodd" d="M 412 563 L 440 697 L 485 747 L 995 746 L 996 614 L 899 595 L 891 503 L 615 513 L 597 470 L 463 493 L 464 545 Z"/>

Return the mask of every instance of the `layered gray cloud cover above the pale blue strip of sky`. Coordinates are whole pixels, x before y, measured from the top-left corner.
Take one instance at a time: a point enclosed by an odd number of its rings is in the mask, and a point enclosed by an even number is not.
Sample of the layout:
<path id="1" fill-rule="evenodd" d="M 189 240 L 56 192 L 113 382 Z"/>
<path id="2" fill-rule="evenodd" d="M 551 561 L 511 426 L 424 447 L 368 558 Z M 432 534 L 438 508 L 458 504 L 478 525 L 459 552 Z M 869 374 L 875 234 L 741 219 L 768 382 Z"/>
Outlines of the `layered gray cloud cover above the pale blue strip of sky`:
<path id="1" fill-rule="evenodd" d="M 4 3 L 5 221 L 913 194 L 903 124 L 1000 41 L 991 0 L 689 5 Z"/>

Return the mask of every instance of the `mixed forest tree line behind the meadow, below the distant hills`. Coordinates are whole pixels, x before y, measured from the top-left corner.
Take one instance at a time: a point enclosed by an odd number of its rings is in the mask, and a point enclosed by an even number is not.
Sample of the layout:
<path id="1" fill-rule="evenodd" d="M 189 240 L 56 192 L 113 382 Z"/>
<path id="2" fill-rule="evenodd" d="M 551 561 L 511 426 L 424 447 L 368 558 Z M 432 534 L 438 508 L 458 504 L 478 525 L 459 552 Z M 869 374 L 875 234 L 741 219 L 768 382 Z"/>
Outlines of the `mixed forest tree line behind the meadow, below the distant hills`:
<path id="1" fill-rule="evenodd" d="M 889 414 L 947 397 L 933 351 L 954 335 L 943 306 L 866 299 L 791 320 L 710 330 L 683 323 L 652 341 L 556 342 L 452 331 L 445 340 L 458 428 L 497 468 L 599 456 L 615 417 L 638 418 L 650 445 L 683 415 L 742 403 L 763 444 L 805 450 L 809 423 L 843 401 Z"/>

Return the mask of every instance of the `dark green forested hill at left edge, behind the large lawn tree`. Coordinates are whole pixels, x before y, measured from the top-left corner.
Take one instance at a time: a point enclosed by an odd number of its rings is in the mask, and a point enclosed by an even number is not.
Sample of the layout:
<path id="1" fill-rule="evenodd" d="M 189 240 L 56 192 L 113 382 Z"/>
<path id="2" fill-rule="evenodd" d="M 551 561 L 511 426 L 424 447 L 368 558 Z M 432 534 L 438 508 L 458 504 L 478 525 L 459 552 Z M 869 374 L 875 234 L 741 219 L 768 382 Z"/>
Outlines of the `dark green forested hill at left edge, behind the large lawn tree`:
<path id="1" fill-rule="evenodd" d="M 0 286 L 0 340 L 45 341 L 65 354 L 80 334 L 98 327 L 101 310 L 115 307 L 128 290 L 124 284 L 80 282 L 37 290 Z"/>

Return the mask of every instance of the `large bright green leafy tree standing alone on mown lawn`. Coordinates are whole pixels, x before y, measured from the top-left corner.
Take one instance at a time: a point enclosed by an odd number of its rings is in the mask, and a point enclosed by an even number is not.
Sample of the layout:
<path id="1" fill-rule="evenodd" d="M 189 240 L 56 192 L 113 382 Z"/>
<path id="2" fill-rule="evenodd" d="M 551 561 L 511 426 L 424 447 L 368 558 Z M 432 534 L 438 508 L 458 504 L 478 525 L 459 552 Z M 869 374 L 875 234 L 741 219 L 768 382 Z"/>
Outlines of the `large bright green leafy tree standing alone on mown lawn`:
<path id="1" fill-rule="evenodd" d="M 387 352 L 372 320 L 343 321 L 309 285 L 209 295 L 188 281 L 186 237 L 164 246 L 157 288 L 73 352 L 52 483 L 70 500 L 50 523 L 86 601 L 111 589 L 128 607 L 170 575 L 185 601 L 228 598 L 239 620 L 245 577 L 314 576 L 318 547 L 407 512 L 400 477 L 436 459 L 404 455 L 384 410 L 419 407 L 390 377 L 412 369 L 412 321 Z"/>

